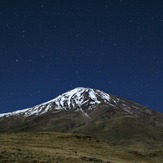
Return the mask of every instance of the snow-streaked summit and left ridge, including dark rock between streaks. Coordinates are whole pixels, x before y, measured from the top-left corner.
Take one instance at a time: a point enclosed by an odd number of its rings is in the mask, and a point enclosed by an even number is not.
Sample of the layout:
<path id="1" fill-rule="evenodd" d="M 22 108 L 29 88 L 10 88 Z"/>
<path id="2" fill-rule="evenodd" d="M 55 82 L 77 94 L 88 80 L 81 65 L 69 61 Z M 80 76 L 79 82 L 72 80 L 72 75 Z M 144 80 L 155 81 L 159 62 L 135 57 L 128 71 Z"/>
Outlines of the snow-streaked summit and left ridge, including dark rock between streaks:
<path id="1" fill-rule="evenodd" d="M 78 110 L 93 109 L 101 102 L 109 103 L 110 95 L 100 90 L 78 87 L 63 93 L 53 100 L 31 108 L 0 114 L 0 117 L 41 115 L 51 110 Z"/>

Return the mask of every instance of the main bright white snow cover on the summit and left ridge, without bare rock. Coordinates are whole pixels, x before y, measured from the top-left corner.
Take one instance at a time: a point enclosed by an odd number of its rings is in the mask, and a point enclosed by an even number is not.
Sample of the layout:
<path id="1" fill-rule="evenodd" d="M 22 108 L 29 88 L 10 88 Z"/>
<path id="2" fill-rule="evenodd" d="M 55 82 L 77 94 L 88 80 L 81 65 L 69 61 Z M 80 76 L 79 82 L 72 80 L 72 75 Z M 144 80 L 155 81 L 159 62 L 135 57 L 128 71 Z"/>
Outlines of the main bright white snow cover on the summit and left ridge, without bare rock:
<path id="1" fill-rule="evenodd" d="M 57 109 L 57 110 L 60 110 L 60 109 L 68 110 L 68 109 L 75 107 L 75 105 L 77 107 L 80 107 L 81 105 L 83 105 L 84 103 L 87 102 L 87 101 L 84 101 L 84 99 L 82 99 L 84 97 L 81 96 L 82 93 L 86 93 L 86 92 L 89 93 L 89 97 L 92 100 L 91 103 L 98 104 L 100 102 L 97 100 L 97 97 L 95 95 L 96 93 L 94 92 L 94 90 L 95 89 L 92 89 L 92 88 L 77 87 L 77 88 L 70 90 L 66 93 L 63 93 L 63 94 L 57 96 L 56 98 L 49 100 L 47 102 L 41 103 L 39 105 L 35 105 L 34 107 L 22 109 L 22 110 L 16 110 L 16 111 L 9 112 L 9 113 L 2 113 L 2 114 L 0 114 L 0 117 L 13 116 L 13 115 L 17 115 L 17 114 L 25 114 L 25 116 L 30 116 L 30 115 L 34 115 L 34 114 L 41 115 L 41 114 L 44 114 L 45 112 L 47 112 L 48 109 L 50 109 L 50 104 L 52 104 L 52 103 L 55 103 L 55 109 Z M 104 100 L 109 101 L 110 97 L 108 94 L 106 94 L 100 90 L 97 90 L 97 89 L 96 89 L 96 91 L 100 92 L 100 95 L 103 96 Z M 76 97 L 74 97 L 74 96 L 76 96 Z M 65 105 L 65 102 L 66 102 L 66 105 Z M 44 105 L 48 105 L 48 106 L 47 106 L 46 110 L 44 110 L 43 112 L 41 112 L 39 109 L 37 109 Z M 33 110 L 33 112 L 29 113 L 29 110 Z"/>

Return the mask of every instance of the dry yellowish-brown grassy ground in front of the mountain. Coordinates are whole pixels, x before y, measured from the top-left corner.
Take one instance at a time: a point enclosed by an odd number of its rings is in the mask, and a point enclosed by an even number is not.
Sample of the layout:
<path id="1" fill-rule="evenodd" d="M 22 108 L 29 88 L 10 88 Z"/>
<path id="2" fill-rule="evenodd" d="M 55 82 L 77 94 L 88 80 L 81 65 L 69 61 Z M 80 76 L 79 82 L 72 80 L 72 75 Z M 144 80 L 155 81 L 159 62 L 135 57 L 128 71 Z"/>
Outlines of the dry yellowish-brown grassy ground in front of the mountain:
<path id="1" fill-rule="evenodd" d="M 70 133 L 1 133 L 0 163 L 3 162 L 162 163 L 163 147 L 142 143 L 113 146 Z"/>

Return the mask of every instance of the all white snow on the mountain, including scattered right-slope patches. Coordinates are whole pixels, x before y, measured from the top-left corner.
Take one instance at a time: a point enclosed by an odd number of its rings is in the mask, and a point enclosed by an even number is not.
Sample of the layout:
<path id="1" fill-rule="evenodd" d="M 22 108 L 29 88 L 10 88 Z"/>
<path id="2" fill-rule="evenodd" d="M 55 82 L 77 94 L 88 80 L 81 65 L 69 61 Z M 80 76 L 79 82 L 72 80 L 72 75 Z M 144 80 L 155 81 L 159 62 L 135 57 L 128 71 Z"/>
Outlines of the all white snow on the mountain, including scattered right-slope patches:
<path id="1" fill-rule="evenodd" d="M 50 104 L 52 104 L 52 103 L 55 103 L 55 105 L 56 105 L 55 109 L 57 109 L 57 110 L 60 110 L 60 109 L 61 110 L 62 109 L 69 110 L 69 109 L 72 109 L 74 107 L 81 107 L 81 105 L 88 102 L 87 99 L 85 99 L 85 101 L 84 101 L 83 98 L 85 98 L 85 97 L 81 96 L 83 93 L 86 93 L 86 92 L 88 92 L 89 95 L 90 95 L 90 98 L 91 98 L 90 100 L 92 100 L 90 102 L 90 104 L 92 104 L 92 105 L 101 103 L 100 101 L 97 100 L 96 95 L 98 95 L 98 97 L 99 96 L 103 97 L 104 102 L 106 102 L 107 104 L 112 105 L 112 106 L 115 106 L 116 103 L 120 99 L 120 98 L 118 98 L 116 96 L 109 95 L 109 94 L 107 94 L 107 93 L 105 93 L 103 91 L 100 91 L 98 89 L 77 87 L 77 88 L 75 88 L 73 90 L 67 91 L 66 93 L 62 93 L 61 95 L 57 96 L 56 98 L 54 98 L 52 100 L 49 100 L 47 102 L 35 105 L 33 107 L 29 107 L 29 108 L 21 109 L 21 110 L 16 110 L 16 111 L 13 111 L 13 112 L 8 112 L 8 113 L 1 113 L 0 117 L 13 116 L 13 115 L 23 114 L 23 113 L 25 113 L 25 116 L 30 116 L 30 115 L 34 115 L 34 114 L 39 115 L 39 112 L 40 112 L 40 115 L 41 115 L 41 114 L 44 114 L 45 112 L 47 112 L 48 109 L 50 109 Z M 110 96 L 112 96 L 112 98 L 110 98 Z M 126 99 L 123 99 L 123 100 L 121 99 L 121 101 L 131 102 L 130 100 L 126 100 Z M 145 107 L 145 106 L 140 105 L 140 104 L 135 103 L 135 102 L 134 102 L 134 104 L 139 105 L 141 108 L 146 108 L 149 113 L 151 111 L 151 109 L 148 109 L 148 107 Z M 43 107 L 44 105 L 47 105 L 47 107 L 46 107 L 46 109 L 44 111 L 41 112 L 39 109 L 37 110 L 37 108 Z M 125 104 L 122 104 L 122 105 L 125 106 Z M 138 107 L 136 109 L 138 109 Z M 29 110 L 33 110 L 33 112 L 29 113 Z M 125 108 L 124 110 L 131 113 L 131 111 L 129 109 Z"/>

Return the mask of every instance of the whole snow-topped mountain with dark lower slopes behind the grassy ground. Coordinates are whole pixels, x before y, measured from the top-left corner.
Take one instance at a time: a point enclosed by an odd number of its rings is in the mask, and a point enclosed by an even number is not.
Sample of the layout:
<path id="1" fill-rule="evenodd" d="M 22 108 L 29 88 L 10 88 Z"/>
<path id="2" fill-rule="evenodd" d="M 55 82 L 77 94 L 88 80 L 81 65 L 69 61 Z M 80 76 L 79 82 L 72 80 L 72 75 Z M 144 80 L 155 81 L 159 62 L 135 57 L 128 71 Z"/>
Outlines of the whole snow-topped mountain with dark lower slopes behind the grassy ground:
<path id="1" fill-rule="evenodd" d="M 109 143 L 163 142 L 163 114 L 91 88 L 75 88 L 34 107 L 0 114 L 0 132 L 59 131 Z"/>

